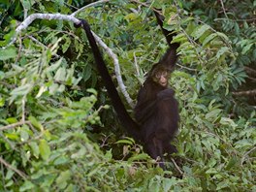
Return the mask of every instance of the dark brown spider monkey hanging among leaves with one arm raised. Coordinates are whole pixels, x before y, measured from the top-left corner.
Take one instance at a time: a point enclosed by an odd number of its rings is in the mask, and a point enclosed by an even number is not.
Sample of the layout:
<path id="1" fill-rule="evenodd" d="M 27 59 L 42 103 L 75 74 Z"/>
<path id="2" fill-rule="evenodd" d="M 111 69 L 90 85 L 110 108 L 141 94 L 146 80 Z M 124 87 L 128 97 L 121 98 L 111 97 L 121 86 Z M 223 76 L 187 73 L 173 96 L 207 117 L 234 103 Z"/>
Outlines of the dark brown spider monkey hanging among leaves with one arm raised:
<path id="1" fill-rule="evenodd" d="M 163 28 L 163 17 L 155 13 L 170 48 L 157 64 L 148 73 L 144 85 L 139 91 L 138 102 L 135 108 L 135 122 L 126 109 L 115 89 L 106 64 L 102 58 L 95 39 L 90 31 L 89 24 L 80 19 L 80 26 L 87 35 L 89 44 L 95 57 L 98 71 L 105 81 L 105 86 L 112 99 L 112 106 L 126 131 L 136 140 L 142 142 L 147 153 L 152 158 L 163 158 L 165 152 L 176 152 L 176 147 L 170 142 L 175 136 L 178 125 L 178 108 L 174 97 L 175 91 L 168 88 L 168 79 L 176 65 L 176 48 L 178 44 L 171 44 L 173 35 Z M 164 164 L 159 164 L 164 168 Z"/>

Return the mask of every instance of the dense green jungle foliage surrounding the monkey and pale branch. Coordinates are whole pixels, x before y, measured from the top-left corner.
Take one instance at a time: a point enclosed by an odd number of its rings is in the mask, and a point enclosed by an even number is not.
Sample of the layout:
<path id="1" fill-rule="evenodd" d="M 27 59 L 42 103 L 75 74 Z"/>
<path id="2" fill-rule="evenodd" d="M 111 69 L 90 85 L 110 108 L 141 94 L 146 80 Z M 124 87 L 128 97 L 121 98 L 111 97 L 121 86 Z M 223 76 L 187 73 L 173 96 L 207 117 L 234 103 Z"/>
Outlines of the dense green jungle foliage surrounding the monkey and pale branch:
<path id="1" fill-rule="evenodd" d="M 16 34 L 27 16 L 80 10 L 135 103 L 168 48 L 154 8 L 180 43 L 178 153 L 166 171 L 116 119 L 83 30 L 45 18 Z M 0 0 L 0 191 L 256 191 L 255 10 L 255 0 Z"/>

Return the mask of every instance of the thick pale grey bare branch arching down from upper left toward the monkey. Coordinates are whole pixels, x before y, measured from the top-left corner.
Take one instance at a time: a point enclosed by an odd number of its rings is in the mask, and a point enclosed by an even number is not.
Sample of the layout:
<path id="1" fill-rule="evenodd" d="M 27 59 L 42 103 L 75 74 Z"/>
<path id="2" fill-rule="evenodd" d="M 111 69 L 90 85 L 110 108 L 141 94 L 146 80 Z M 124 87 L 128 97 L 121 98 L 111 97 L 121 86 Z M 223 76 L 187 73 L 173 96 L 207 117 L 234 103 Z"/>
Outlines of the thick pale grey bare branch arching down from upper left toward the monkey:
<path id="1" fill-rule="evenodd" d="M 103 2 L 103 1 L 102 1 Z M 74 15 L 74 14 L 73 14 Z M 23 22 L 21 22 L 21 24 L 16 28 L 16 35 L 18 35 L 21 30 L 27 28 L 29 26 L 29 24 L 31 24 L 31 22 L 33 22 L 36 18 L 40 18 L 40 19 L 57 19 L 57 20 L 67 20 L 67 21 L 71 21 L 74 22 L 76 24 L 80 23 L 80 19 L 76 18 L 75 16 L 67 16 L 67 15 L 61 15 L 61 14 L 33 14 L 31 16 L 28 16 Z M 120 87 L 120 90 L 122 92 L 122 94 L 124 95 L 125 99 L 127 100 L 127 102 L 129 103 L 129 105 L 131 107 L 134 107 L 133 101 L 130 98 L 126 87 L 123 83 L 123 80 L 121 78 L 121 72 L 120 72 L 120 67 L 119 67 L 119 61 L 118 58 L 116 56 L 116 54 L 114 54 L 112 52 L 112 49 L 109 48 L 102 40 L 100 37 L 98 37 L 95 33 L 93 33 L 93 36 L 96 40 L 96 42 L 102 47 L 104 48 L 107 53 L 109 54 L 110 57 L 112 57 L 113 60 L 113 64 L 114 64 L 114 72 L 115 72 L 115 76 L 116 76 L 116 80 L 118 82 L 118 85 Z M 16 38 L 13 39 L 11 44 L 14 44 L 16 41 Z"/>

